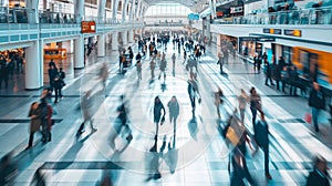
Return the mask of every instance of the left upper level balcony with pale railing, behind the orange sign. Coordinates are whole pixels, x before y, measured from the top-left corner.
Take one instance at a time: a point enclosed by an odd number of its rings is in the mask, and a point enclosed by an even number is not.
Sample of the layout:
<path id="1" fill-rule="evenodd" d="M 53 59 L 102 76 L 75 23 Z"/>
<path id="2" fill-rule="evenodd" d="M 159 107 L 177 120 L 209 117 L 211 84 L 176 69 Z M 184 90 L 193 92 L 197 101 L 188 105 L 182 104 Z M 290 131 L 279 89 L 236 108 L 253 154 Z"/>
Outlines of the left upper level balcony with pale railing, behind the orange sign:
<path id="1" fill-rule="evenodd" d="M 68 40 L 81 34 L 81 22 L 74 14 L 40 11 L 39 23 L 29 23 L 27 9 L 0 8 L 0 44 L 29 42 L 39 39 Z M 143 28 L 143 22 L 84 18 L 96 23 L 96 34 Z M 91 37 L 92 34 L 83 34 Z"/>

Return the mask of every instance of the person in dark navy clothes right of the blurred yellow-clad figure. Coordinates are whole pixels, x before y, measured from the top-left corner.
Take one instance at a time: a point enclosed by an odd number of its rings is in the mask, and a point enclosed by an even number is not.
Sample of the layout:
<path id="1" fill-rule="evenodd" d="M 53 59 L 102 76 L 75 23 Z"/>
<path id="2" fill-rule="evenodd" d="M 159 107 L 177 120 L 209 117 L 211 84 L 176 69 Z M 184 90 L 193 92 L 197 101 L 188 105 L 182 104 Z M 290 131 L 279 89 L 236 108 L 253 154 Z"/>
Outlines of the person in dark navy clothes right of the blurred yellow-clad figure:
<path id="1" fill-rule="evenodd" d="M 264 153 L 264 173 L 267 179 L 272 179 L 272 176 L 269 172 L 269 126 L 264 117 L 264 113 L 260 112 L 261 120 L 257 122 L 255 127 L 255 141 L 259 147 L 262 148 Z"/>

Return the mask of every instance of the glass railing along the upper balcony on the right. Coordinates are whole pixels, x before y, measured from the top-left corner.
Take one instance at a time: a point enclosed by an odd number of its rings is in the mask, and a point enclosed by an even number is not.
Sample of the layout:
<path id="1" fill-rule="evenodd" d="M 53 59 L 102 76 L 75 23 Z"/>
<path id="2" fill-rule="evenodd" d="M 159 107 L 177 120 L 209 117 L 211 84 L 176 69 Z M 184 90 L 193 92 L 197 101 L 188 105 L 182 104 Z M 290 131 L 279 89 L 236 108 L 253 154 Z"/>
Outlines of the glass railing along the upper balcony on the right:
<path id="1" fill-rule="evenodd" d="M 219 24 L 332 24 L 332 7 L 302 9 L 214 20 Z"/>

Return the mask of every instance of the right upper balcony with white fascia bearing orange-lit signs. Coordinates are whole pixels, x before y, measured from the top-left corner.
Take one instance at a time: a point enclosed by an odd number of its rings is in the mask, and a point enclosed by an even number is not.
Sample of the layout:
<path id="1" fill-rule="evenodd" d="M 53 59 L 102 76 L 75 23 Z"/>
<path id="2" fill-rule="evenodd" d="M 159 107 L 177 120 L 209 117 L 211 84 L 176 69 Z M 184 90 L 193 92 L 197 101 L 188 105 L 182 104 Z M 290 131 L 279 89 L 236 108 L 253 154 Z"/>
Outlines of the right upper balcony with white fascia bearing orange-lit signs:
<path id="1" fill-rule="evenodd" d="M 194 28 L 206 29 L 206 22 Z M 268 37 L 276 43 L 332 52 L 332 7 L 212 20 L 210 32 L 231 37 Z"/>

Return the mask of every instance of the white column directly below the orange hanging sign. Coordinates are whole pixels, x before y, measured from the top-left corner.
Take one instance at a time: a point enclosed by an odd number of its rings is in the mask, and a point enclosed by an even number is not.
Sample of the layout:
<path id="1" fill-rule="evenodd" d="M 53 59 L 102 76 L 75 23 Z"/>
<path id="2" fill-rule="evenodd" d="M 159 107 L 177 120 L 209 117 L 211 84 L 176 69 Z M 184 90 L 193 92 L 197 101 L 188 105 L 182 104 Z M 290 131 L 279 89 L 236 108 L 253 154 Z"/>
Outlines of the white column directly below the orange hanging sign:
<path id="1" fill-rule="evenodd" d="M 74 70 L 84 69 L 84 38 L 83 35 L 79 35 L 77 39 L 74 40 Z"/>

